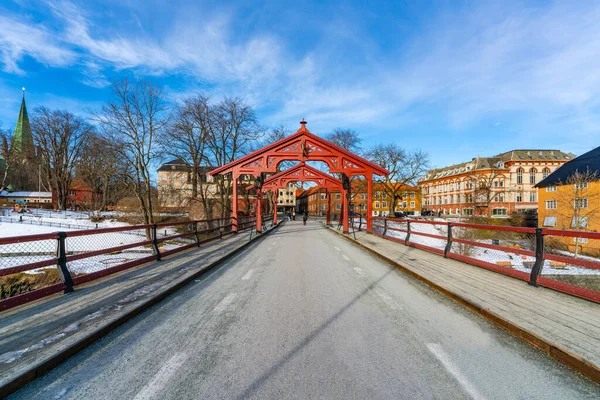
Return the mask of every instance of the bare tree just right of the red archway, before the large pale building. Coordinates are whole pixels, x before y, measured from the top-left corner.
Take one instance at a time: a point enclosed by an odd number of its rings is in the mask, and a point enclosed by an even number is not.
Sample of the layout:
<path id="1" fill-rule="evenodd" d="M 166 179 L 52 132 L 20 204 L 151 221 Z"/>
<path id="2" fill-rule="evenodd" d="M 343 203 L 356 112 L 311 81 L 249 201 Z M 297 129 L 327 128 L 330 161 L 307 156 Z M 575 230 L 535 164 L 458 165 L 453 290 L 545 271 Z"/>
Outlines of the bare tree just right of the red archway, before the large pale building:
<path id="1" fill-rule="evenodd" d="M 376 179 L 389 196 L 388 207 L 393 214 L 398 201 L 402 200 L 407 185 L 416 180 L 429 168 L 429 155 L 422 150 L 407 151 L 396 143 L 379 144 L 370 148 L 367 159 L 390 171 L 389 175 Z"/>

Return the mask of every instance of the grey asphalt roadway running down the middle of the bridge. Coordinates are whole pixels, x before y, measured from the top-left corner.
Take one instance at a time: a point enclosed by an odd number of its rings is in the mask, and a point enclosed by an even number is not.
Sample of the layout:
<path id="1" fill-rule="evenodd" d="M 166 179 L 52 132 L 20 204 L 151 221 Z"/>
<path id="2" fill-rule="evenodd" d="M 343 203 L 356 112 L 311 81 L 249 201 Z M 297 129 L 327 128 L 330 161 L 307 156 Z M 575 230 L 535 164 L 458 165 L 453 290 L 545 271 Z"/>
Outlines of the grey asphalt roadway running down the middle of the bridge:
<path id="1" fill-rule="evenodd" d="M 600 385 L 296 221 L 13 398 L 567 400 Z"/>

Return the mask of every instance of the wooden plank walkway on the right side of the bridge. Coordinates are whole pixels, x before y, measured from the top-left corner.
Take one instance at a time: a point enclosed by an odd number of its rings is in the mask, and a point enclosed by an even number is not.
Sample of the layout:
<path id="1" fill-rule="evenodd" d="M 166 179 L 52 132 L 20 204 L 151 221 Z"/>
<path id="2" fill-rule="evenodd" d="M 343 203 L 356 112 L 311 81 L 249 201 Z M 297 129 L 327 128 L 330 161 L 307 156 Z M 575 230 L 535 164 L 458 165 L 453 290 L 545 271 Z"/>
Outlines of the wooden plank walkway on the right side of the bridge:
<path id="1" fill-rule="evenodd" d="M 340 234 L 335 229 L 331 231 Z M 600 382 L 600 306 L 365 231 L 343 235 Z"/>

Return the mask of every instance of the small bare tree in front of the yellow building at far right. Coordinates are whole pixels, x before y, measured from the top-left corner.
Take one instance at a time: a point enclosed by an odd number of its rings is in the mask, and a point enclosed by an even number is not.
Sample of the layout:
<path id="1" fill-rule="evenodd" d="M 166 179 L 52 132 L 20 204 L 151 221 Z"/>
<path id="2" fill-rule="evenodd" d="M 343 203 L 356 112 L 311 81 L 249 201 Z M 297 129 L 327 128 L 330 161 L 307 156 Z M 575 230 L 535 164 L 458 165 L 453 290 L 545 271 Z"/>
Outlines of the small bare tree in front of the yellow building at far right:
<path id="1" fill-rule="evenodd" d="M 600 211 L 600 192 L 590 187 L 599 179 L 596 171 L 575 170 L 564 182 L 557 183 L 556 211 L 562 222 L 562 229 L 586 230 L 590 219 L 595 219 Z M 575 238 L 575 257 L 579 255 L 580 238 Z"/>

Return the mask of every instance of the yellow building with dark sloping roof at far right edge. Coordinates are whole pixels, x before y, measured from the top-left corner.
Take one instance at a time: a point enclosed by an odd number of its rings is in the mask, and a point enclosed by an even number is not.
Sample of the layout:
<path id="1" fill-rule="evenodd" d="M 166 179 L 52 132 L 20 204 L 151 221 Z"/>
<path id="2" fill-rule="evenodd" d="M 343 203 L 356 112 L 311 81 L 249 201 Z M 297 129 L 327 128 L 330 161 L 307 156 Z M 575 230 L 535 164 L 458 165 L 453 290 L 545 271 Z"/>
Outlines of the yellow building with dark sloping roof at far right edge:
<path id="1" fill-rule="evenodd" d="M 600 231 L 600 147 L 565 163 L 536 187 L 540 228 Z M 546 243 L 576 254 L 600 254 L 598 240 L 548 237 Z"/>

